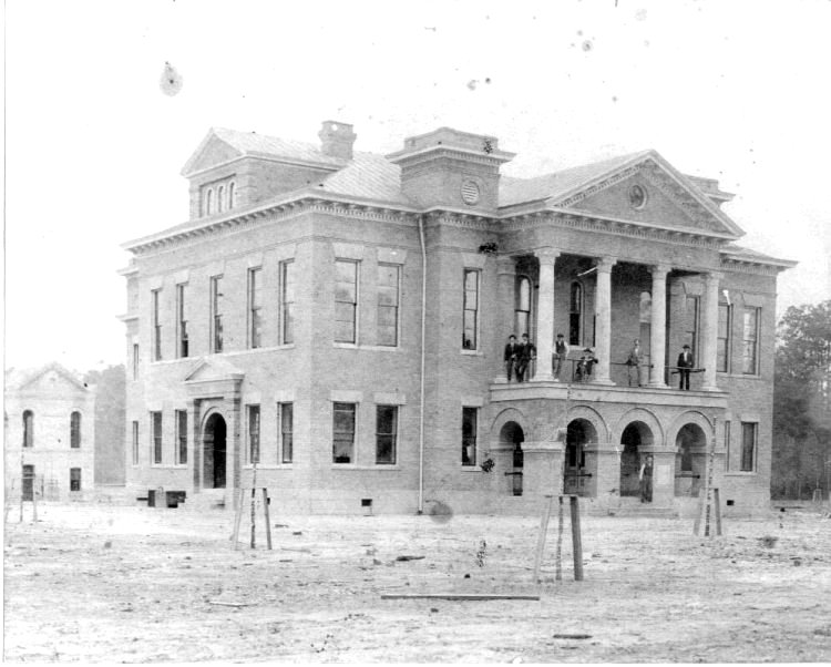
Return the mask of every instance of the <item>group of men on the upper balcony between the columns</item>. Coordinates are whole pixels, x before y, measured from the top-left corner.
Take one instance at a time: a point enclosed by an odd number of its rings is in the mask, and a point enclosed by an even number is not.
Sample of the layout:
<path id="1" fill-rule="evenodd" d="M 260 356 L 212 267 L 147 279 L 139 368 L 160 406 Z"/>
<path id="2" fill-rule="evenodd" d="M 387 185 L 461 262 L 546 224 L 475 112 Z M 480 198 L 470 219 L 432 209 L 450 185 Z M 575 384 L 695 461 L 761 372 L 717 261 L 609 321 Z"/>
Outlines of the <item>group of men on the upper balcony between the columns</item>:
<path id="1" fill-rule="evenodd" d="M 560 380 L 560 372 L 563 368 L 564 362 L 568 358 L 571 348 L 565 341 L 565 337 L 562 334 L 557 334 L 557 339 L 554 342 L 554 351 L 552 353 L 552 373 L 556 380 Z M 536 347 L 529 339 L 527 334 L 522 335 L 522 342 L 516 342 L 516 336 L 513 334 L 507 338 L 507 345 L 505 346 L 505 374 L 507 381 L 511 381 L 512 376 L 516 377 L 517 382 L 523 382 L 529 379 L 529 367 L 531 361 L 536 358 Z M 626 366 L 628 370 L 629 387 L 633 382 L 637 387 L 643 387 L 643 380 L 640 376 L 640 366 L 644 362 L 644 352 L 640 348 L 640 339 L 636 338 L 629 355 L 626 358 Z M 585 348 L 583 355 L 577 360 L 577 368 L 575 369 L 575 379 L 578 382 L 588 380 L 592 376 L 592 368 L 597 363 L 597 358 L 594 356 L 592 348 Z M 689 391 L 689 374 L 695 366 L 693 358 L 693 350 L 689 345 L 684 345 L 680 355 L 678 355 L 677 371 L 678 371 L 678 389 Z"/>

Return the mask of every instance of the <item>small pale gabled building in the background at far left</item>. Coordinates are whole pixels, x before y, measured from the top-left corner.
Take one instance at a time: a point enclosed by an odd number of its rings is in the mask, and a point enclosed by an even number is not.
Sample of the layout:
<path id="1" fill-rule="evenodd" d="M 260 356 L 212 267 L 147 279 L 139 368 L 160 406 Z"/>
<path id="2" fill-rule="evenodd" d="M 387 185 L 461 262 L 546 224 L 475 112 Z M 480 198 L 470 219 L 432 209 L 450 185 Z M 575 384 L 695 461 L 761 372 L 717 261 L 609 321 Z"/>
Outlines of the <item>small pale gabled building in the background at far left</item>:
<path id="1" fill-rule="evenodd" d="M 7 502 L 92 495 L 95 387 L 59 363 L 6 371 Z"/>

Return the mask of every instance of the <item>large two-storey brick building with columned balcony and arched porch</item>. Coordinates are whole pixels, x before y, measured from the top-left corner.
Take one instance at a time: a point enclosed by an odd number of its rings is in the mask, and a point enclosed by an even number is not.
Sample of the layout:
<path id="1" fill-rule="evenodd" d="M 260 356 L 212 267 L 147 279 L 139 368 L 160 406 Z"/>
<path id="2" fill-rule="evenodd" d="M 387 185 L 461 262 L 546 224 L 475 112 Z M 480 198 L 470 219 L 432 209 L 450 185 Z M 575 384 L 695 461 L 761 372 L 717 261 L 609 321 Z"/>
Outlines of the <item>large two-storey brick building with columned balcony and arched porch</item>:
<path id="1" fill-rule="evenodd" d="M 512 178 L 492 136 L 387 156 L 343 123 L 319 136 L 212 130 L 183 170 L 191 219 L 125 244 L 129 488 L 229 501 L 258 456 L 285 512 L 535 512 L 561 484 L 605 512 L 637 503 L 650 453 L 653 506 L 684 511 L 715 438 L 725 511 L 767 506 L 792 263 L 732 243 L 716 181 L 655 151 Z M 533 378 L 507 382 L 525 331 Z M 594 349 L 589 381 L 552 377 L 558 332 Z"/>

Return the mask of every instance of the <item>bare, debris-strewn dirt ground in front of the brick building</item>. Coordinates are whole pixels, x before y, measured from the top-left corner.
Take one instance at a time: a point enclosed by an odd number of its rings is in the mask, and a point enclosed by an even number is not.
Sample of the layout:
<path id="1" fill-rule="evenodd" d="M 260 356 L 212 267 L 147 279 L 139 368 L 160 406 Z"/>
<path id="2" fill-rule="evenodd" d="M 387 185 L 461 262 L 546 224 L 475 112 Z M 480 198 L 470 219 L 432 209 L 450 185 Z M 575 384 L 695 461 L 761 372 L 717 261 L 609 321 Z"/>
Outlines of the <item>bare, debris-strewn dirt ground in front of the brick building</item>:
<path id="1" fill-rule="evenodd" d="M 831 660 L 831 520 L 817 512 L 727 521 L 715 538 L 681 520 L 584 517 L 584 582 L 566 513 L 563 582 L 553 516 L 538 602 L 450 602 L 381 594 L 535 594 L 538 519 L 273 511 L 269 552 L 261 533 L 233 550 L 230 512 L 39 511 L 6 524 L 7 660 Z"/>

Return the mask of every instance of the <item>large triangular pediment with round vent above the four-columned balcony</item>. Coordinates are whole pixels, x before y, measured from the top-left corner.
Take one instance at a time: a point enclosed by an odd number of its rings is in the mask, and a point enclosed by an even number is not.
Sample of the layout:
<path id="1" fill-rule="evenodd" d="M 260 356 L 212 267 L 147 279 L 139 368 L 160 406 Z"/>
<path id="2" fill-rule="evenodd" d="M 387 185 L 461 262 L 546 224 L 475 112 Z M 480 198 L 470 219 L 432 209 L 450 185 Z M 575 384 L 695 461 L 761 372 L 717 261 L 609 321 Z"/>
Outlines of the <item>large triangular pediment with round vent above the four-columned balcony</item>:
<path id="1" fill-rule="evenodd" d="M 707 195 L 654 151 L 551 198 L 548 205 L 706 236 L 743 235 Z"/>

